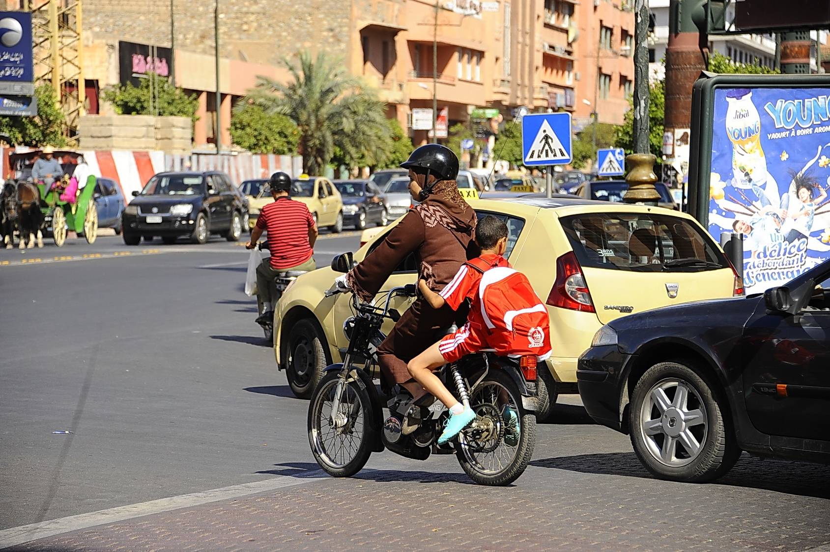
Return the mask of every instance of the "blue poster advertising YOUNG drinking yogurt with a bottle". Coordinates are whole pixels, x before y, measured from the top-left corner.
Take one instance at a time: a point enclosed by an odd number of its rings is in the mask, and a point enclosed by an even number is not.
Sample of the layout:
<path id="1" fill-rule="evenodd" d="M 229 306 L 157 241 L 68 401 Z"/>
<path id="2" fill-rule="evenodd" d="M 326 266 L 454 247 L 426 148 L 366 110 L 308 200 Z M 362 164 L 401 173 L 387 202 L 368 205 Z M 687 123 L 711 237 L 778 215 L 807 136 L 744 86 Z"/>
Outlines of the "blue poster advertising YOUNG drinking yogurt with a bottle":
<path id="1" fill-rule="evenodd" d="M 746 293 L 830 258 L 830 89 L 715 90 L 709 232 L 744 235 Z"/>

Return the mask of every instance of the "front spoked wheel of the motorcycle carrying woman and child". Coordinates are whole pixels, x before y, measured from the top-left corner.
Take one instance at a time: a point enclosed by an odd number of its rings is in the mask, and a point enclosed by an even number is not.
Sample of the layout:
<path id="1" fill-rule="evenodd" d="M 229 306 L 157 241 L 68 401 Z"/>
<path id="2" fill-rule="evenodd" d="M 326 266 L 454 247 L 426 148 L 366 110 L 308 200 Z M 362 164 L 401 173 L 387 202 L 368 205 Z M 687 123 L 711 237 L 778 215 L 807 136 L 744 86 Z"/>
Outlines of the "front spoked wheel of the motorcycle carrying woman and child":
<path id="1" fill-rule="evenodd" d="M 326 473 L 351 477 L 363 469 L 372 454 L 376 436 L 369 420 L 374 406 L 362 382 L 344 380 L 339 406 L 332 415 L 340 382 L 339 372 L 330 372 L 311 396 L 309 443 L 311 453 Z"/>

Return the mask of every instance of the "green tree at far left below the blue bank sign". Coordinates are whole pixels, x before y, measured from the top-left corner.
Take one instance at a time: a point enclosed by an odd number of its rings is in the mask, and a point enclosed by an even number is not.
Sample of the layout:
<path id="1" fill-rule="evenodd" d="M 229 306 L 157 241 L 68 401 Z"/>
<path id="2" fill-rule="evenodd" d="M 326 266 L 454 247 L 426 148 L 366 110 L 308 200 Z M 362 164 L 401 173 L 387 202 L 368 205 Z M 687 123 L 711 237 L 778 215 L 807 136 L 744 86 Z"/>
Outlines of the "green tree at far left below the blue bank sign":
<path id="1" fill-rule="evenodd" d="M 37 115 L 35 117 L 0 117 L 0 133 L 7 134 L 16 146 L 66 145 L 63 125 L 66 116 L 56 103 L 55 90 L 50 85 L 35 89 Z"/>

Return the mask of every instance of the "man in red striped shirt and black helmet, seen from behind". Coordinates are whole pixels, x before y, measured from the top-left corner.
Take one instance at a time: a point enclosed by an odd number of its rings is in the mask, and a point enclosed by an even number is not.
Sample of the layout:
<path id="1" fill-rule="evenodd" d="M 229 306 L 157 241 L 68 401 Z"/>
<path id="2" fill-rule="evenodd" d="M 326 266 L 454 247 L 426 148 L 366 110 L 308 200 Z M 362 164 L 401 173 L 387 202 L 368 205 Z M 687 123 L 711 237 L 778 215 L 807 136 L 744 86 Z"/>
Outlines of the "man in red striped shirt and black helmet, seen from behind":
<path id="1" fill-rule="evenodd" d="M 288 270 L 314 270 L 314 244 L 317 240 L 317 226 L 305 203 L 294 201 L 288 196 L 291 191 L 291 177 L 285 172 L 275 172 L 268 181 L 271 186 L 273 203 L 262 207 L 256 225 L 251 230 L 251 241 L 245 245 L 254 249 L 262 231 L 268 232 L 268 249 L 271 257 L 263 259 L 256 269 L 256 294 L 260 298 L 262 312 L 258 312 L 257 323 L 274 316 L 273 303 L 281 292 L 272 289 L 276 274 Z M 276 293 L 275 297 L 271 293 Z"/>

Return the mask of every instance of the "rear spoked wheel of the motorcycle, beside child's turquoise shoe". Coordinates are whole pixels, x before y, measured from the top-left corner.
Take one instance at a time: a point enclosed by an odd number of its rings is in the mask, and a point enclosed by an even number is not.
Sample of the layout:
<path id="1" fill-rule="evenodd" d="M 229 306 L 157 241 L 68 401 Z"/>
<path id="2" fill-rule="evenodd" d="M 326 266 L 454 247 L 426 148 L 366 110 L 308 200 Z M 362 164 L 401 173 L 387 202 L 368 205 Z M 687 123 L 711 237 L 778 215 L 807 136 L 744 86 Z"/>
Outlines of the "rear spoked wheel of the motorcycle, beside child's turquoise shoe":
<path id="1" fill-rule="evenodd" d="M 476 420 L 461 431 L 456 444 L 458 462 L 466 474 L 480 485 L 509 485 L 525 472 L 536 443 L 534 414 L 522 408 L 521 395 L 510 376 L 491 371 L 472 390 L 470 405 Z M 507 408 L 519 420 L 508 420 Z"/>

